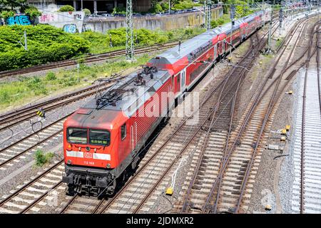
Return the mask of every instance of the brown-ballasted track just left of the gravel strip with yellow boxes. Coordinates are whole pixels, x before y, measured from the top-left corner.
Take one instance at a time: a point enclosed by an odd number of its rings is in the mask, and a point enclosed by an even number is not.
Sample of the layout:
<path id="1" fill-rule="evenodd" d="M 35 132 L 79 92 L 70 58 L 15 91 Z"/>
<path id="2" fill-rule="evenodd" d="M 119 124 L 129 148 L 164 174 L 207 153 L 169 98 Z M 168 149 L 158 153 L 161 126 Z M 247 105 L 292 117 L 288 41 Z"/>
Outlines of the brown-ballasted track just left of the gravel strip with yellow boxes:
<path id="1" fill-rule="evenodd" d="M 255 96 L 251 100 L 248 110 L 243 115 L 241 124 L 238 125 L 235 132 L 231 134 L 230 142 L 228 142 L 228 150 L 225 150 L 224 157 L 221 160 L 218 177 L 215 180 L 210 193 L 206 199 L 207 204 L 203 207 L 202 212 L 206 213 L 238 213 L 246 212 L 246 205 L 250 199 L 253 182 L 255 182 L 255 174 L 260 164 L 260 155 L 263 145 L 266 141 L 266 133 L 269 131 L 270 120 L 275 113 L 282 91 L 286 88 L 289 80 L 284 80 L 282 76 L 288 68 L 288 63 L 292 57 L 295 47 L 291 51 L 287 51 L 287 46 L 300 28 L 301 24 L 307 25 L 307 21 L 302 20 L 292 30 L 292 35 L 287 40 L 280 56 L 287 55 L 287 61 L 282 66 L 280 75 L 268 83 L 268 78 L 272 78 L 275 70 L 270 71 L 265 77 L 263 86 L 258 88 Z M 304 26 L 301 27 L 299 36 L 295 39 L 295 43 L 300 38 L 300 34 Z M 280 58 L 275 61 L 279 63 Z M 291 63 L 293 65 L 296 61 Z M 276 66 L 276 64 L 275 64 Z M 274 66 L 274 67 L 275 67 Z M 272 67 L 272 69 L 274 68 Z M 283 79 L 283 80 L 282 80 Z"/>

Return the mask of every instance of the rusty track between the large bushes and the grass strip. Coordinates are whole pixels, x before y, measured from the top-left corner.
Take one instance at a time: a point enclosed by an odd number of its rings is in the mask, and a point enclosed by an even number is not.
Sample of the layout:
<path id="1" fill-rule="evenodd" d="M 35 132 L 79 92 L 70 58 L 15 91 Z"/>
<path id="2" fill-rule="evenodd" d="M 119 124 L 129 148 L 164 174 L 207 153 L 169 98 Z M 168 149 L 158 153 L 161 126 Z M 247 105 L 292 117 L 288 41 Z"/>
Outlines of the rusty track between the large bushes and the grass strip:
<path id="1" fill-rule="evenodd" d="M 171 48 L 173 46 L 177 46 L 177 45 L 178 45 L 178 42 L 172 42 L 172 43 L 158 44 L 155 46 L 136 48 L 135 53 L 139 54 L 139 53 L 146 53 L 146 52 L 151 52 L 151 51 L 161 51 L 161 50 L 165 50 L 165 49 Z M 84 62 L 85 63 L 92 63 L 92 62 L 96 62 L 96 61 L 104 61 L 104 60 L 116 58 L 119 56 L 125 56 L 125 50 L 111 51 L 108 53 L 86 56 Z M 29 68 L 16 69 L 16 70 L 12 70 L 12 71 L 1 71 L 0 78 L 4 78 L 7 76 L 16 76 L 16 75 L 21 75 L 21 74 L 25 74 L 25 73 L 32 73 L 32 72 L 36 72 L 36 71 L 44 71 L 44 70 L 49 70 L 49 69 L 53 69 L 53 68 L 61 68 L 61 67 L 66 67 L 66 66 L 76 66 L 77 63 L 78 63 L 77 59 L 76 60 L 65 60 L 65 61 L 58 61 L 58 62 L 54 62 L 54 63 L 46 63 L 46 64 L 42 64 L 39 66 L 31 66 Z"/>

